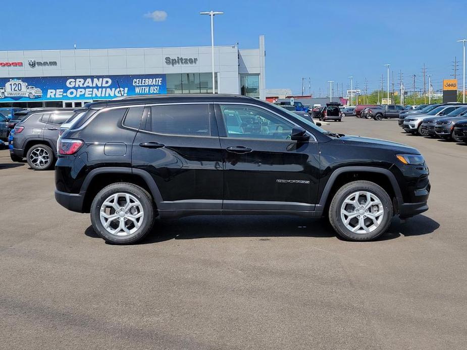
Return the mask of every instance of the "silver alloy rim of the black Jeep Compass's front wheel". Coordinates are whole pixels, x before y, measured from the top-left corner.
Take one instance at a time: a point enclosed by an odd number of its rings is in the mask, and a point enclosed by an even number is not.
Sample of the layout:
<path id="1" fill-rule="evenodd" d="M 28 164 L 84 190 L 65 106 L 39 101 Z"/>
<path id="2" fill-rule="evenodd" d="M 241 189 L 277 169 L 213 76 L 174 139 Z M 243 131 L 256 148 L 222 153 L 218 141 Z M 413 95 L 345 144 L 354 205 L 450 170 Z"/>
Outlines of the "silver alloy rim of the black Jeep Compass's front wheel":
<path id="1" fill-rule="evenodd" d="M 368 234 L 381 224 L 384 208 L 381 200 L 367 191 L 354 192 L 341 206 L 341 219 L 345 227 L 355 234 Z"/>

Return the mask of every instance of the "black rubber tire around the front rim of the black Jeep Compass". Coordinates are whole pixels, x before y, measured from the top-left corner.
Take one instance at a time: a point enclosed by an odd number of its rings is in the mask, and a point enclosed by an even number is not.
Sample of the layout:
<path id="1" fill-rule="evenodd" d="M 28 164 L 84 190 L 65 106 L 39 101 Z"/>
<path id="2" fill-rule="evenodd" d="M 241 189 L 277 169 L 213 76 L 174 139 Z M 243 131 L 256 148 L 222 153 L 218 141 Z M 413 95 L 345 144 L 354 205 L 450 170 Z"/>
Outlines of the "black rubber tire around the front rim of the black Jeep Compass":
<path id="1" fill-rule="evenodd" d="M 352 232 L 345 226 L 340 214 L 344 200 L 357 191 L 366 191 L 377 196 L 384 210 L 384 216 L 379 226 L 367 234 Z M 350 241 L 369 241 L 378 238 L 388 229 L 392 215 L 393 207 L 391 198 L 383 188 L 370 181 L 353 181 L 342 186 L 334 195 L 329 207 L 329 222 L 340 237 Z"/>

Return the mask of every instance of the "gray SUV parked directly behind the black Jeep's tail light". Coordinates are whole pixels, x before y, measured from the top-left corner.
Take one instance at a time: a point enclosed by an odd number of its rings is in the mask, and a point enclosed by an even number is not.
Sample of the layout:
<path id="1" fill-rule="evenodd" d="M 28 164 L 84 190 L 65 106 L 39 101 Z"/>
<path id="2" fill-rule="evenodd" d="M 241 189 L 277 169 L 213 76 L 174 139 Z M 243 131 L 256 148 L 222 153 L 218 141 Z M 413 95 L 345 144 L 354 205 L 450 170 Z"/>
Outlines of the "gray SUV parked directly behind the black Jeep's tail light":
<path id="1" fill-rule="evenodd" d="M 10 156 L 14 161 L 24 157 L 34 170 L 46 170 L 55 164 L 60 126 L 74 113 L 69 108 L 44 108 L 30 111 L 15 126 L 13 148 Z"/>

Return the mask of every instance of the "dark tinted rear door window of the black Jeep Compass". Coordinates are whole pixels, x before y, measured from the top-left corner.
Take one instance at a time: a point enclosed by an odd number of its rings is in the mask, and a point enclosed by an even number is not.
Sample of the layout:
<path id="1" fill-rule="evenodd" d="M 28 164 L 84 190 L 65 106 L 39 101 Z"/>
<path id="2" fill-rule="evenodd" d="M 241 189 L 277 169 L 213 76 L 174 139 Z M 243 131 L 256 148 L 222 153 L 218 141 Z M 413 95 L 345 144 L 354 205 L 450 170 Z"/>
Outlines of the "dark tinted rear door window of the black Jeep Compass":
<path id="1" fill-rule="evenodd" d="M 166 135 L 210 136 L 209 104 L 151 106 L 146 130 Z"/>

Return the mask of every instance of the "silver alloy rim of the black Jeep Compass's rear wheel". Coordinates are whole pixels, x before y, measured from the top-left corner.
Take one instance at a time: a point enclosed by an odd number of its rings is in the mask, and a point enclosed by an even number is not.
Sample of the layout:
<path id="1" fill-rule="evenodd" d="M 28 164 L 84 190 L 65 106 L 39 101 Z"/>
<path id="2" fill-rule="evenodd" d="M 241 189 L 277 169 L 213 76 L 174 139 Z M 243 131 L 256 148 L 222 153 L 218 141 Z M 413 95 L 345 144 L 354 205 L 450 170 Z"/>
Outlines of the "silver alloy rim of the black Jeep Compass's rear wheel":
<path id="1" fill-rule="evenodd" d="M 112 235 L 134 234 L 144 220 L 143 206 L 135 196 L 116 193 L 103 201 L 99 211 L 102 226 Z"/>

